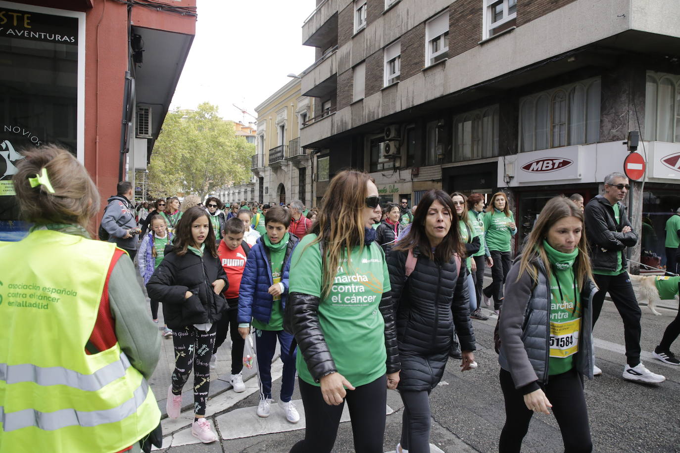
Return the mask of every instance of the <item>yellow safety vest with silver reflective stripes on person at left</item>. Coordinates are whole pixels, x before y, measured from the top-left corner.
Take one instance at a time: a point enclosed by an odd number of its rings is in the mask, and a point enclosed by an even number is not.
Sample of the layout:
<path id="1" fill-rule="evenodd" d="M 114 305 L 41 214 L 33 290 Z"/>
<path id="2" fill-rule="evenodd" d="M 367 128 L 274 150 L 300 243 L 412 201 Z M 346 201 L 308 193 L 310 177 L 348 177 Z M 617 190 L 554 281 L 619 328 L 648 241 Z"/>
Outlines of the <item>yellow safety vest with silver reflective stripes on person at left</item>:
<path id="1" fill-rule="evenodd" d="M 0 453 L 118 452 L 158 426 L 120 345 L 85 353 L 115 250 L 50 230 L 0 242 Z"/>

